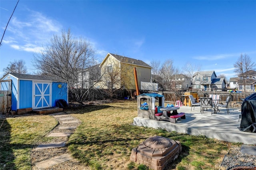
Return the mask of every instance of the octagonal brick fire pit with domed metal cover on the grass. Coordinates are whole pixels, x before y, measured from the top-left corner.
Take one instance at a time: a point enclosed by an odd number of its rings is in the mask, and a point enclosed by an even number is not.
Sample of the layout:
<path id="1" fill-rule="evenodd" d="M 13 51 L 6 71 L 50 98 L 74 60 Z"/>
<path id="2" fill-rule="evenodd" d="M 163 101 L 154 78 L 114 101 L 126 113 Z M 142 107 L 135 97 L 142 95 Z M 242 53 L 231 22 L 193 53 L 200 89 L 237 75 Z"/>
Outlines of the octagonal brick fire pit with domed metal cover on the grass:
<path id="1" fill-rule="evenodd" d="M 145 164 L 154 170 L 163 170 L 181 151 L 182 146 L 178 140 L 153 136 L 132 149 L 130 160 Z"/>

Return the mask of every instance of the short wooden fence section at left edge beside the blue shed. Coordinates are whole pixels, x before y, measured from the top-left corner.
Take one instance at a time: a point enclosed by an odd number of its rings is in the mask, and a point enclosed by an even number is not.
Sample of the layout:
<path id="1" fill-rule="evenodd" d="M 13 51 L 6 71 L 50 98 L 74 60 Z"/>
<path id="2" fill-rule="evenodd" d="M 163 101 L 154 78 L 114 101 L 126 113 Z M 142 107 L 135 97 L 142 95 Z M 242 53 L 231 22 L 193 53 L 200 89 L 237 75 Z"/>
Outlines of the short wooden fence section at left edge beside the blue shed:
<path id="1" fill-rule="evenodd" d="M 0 114 L 8 113 L 11 107 L 12 91 L 0 91 Z"/>

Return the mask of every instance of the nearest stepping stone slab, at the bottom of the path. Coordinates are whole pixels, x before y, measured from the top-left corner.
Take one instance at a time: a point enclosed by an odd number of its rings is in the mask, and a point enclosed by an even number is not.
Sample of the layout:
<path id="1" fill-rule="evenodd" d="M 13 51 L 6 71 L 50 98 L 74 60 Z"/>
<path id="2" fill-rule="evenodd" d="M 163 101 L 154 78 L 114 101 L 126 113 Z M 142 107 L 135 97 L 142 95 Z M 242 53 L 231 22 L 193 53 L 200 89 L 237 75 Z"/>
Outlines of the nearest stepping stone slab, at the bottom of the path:
<path id="1" fill-rule="evenodd" d="M 36 168 L 38 168 L 39 170 L 42 170 L 42 169 L 47 168 L 49 166 L 54 166 L 56 164 L 66 162 L 66 161 L 71 160 L 71 159 L 73 159 L 73 158 L 70 156 L 70 154 L 63 154 L 63 155 L 56 156 L 54 158 L 36 163 Z"/>

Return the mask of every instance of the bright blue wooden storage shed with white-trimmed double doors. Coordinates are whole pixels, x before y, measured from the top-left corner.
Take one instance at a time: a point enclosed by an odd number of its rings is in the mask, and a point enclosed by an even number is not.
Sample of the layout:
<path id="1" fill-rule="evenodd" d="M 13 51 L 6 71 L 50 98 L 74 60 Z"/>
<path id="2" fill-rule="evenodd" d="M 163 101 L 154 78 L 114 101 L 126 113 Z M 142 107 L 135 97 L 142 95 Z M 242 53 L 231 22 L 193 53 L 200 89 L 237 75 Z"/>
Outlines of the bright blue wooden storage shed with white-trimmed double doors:
<path id="1" fill-rule="evenodd" d="M 55 107 L 58 99 L 68 103 L 68 83 L 55 77 L 8 73 L 0 79 L 0 90 L 12 91 L 12 111 Z"/>

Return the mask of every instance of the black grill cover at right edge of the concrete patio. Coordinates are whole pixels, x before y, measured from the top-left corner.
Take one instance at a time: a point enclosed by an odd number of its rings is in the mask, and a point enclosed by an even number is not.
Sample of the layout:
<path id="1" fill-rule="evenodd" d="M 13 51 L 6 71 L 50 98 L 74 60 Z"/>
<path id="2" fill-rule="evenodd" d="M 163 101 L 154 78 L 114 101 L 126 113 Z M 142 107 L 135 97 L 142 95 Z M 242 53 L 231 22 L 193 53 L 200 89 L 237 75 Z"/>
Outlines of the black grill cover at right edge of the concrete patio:
<path id="1" fill-rule="evenodd" d="M 256 132 L 256 93 L 244 99 L 241 112 L 242 120 L 238 129 L 243 132 Z"/>

